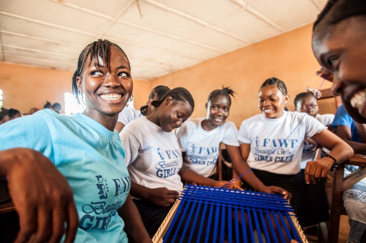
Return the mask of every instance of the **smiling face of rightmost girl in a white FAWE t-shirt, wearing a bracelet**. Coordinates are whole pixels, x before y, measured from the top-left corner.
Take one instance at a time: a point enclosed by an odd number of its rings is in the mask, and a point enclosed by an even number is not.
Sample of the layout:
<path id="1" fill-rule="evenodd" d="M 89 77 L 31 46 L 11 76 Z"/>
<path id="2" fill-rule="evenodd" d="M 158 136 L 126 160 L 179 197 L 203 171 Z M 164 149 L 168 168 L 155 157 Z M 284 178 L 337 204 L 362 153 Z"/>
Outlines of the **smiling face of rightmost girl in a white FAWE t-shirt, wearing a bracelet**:
<path id="1" fill-rule="evenodd" d="M 258 107 L 266 118 L 280 118 L 284 114 L 289 95 L 284 95 L 276 84 L 264 86 L 258 96 Z"/>

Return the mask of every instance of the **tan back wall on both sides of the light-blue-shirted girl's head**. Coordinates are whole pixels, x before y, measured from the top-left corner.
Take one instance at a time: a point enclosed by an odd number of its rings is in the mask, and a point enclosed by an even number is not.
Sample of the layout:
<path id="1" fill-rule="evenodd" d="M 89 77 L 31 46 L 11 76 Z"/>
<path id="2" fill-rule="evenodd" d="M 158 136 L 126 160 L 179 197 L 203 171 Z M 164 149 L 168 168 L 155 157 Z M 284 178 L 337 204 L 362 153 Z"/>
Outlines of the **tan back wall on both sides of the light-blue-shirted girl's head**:
<path id="1" fill-rule="evenodd" d="M 59 102 L 63 106 L 64 93 L 71 92 L 72 76 L 73 73 L 67 71 L 0 62 L 3 106 L 21 113 L 27 113 L 33 107 L 42 109 L 46 101 Z M 146 103 L 149 85 L 148 82 L 134 80 L 134 103 L 137 109 Z"/>

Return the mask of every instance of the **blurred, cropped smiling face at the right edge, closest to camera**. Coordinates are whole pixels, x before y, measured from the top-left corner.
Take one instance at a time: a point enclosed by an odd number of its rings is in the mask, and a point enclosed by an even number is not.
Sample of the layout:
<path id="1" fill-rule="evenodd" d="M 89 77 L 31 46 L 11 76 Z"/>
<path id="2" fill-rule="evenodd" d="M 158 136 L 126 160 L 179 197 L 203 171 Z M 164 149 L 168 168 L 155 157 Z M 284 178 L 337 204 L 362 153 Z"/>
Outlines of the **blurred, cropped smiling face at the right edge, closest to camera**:
<path id="1" fill-rule="evenodd" d="M 350 17 L 327 28 L 315 29 L 313 52 L 320 65 L 333 74 L 333 95 L 341 95 L 347 112 L 366 123 L 366 17 Z M 320 28 L 324 29 L 324 28 Z"/>

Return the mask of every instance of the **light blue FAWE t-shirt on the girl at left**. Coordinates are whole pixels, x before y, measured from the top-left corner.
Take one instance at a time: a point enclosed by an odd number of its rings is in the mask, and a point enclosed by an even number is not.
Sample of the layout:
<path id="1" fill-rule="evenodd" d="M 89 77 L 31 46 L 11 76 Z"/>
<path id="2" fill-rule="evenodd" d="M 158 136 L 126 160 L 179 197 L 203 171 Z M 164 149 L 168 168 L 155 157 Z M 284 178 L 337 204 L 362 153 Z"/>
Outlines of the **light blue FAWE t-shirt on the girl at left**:
<path id="1" fill-rule="evenodd" d="M 80 220 L 75 242 L 128 242 L 117 209 L 131 181 L 117 131 L 45 109 L 0 126 L 0 150 L 16 147 L 40 151 L 68 180 Z"/>

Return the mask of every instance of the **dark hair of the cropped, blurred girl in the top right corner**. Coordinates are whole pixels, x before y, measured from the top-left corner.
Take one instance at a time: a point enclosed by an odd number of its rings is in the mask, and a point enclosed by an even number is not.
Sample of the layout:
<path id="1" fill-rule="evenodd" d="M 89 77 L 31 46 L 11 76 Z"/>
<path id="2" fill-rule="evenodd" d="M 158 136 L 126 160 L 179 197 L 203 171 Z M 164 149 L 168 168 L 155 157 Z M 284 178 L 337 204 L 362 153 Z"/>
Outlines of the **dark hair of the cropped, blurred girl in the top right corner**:
<path id="1" fill-rule="evenodd" d="M 359 15 L 366 15 L 364 0 L 329 0 L 313 24 L 313 32 L 319 25 L 329 26 Z"/>

